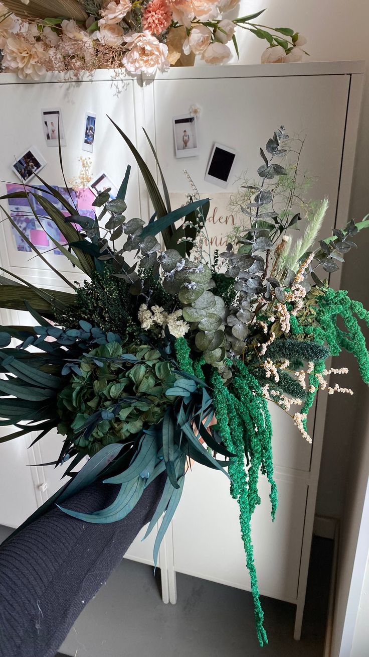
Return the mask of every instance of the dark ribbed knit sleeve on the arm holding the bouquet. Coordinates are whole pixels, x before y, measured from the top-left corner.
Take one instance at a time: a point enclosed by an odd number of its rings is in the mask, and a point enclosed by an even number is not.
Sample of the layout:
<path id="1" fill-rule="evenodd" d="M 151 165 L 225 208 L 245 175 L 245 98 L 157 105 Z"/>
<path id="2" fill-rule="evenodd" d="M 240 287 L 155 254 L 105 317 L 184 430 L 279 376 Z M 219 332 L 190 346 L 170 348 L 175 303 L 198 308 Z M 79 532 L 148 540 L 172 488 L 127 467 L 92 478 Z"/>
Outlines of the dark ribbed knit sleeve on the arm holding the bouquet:
<path id="1" fill-rule="evenodd" d="M 165 476 L 157 477 L 119 522 L 82 522 L 55 507 L 0 547 L 0 657 L 54 657 L 88 600 L 151 520 L 164 483 Z M 118 489 L 95 484 L 64 506 L 103 509 Z"/>

